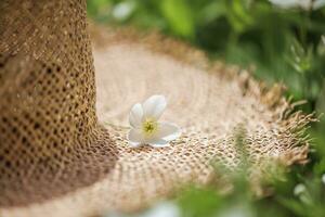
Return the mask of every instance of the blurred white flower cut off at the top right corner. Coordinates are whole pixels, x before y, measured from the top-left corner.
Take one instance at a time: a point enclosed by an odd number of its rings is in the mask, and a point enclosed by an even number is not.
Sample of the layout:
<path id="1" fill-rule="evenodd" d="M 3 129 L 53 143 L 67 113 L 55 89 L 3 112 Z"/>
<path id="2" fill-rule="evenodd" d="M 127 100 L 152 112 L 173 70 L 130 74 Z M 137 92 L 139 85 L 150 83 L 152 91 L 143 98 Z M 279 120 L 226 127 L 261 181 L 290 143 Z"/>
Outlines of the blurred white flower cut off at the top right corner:
<path id="1" fill-rule="evenodd" d="M 284 9 L 301 8 L 303 10 L 317 10 L 325 5 L 325 0 L 269 0 L 273 4 L 276 4 Z"/>

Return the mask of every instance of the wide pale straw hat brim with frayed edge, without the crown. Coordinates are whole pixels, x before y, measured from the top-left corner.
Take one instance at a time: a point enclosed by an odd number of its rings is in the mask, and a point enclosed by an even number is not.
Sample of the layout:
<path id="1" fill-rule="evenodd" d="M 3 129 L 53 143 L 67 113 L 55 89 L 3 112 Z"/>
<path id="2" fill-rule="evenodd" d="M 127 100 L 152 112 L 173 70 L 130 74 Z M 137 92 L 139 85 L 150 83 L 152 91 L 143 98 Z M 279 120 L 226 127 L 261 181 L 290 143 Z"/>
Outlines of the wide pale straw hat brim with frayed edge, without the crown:
<path id="1" fill-rule="evenodd" d="M 98 117 L 109 132 L 116 158 L 102 155 L 109 171 L 92 184 L 41 203 L 0 208 L 1 216 L 138 210 L 184 183 L 208 183 L 214 177 L 212 162 L 236 169 L 238 127 L 245 128 L 246 149 L 256 168 L 270 157 L 286 165 L 306 162 L 308 142 L 297 131 L 312 116 L 288 115 L 290 103 L 278 87 L 266 90 L 239 68 L 210 62 L 202 52 L 155 34 L 143 37 L 96 27 L 92 31 Z M 183 133 L 168 148 L 132 149 L 126 139 L 129 111 L 156 93 L 168 99 L 162 118 L 177 123 Z M 99 168 L 90 168 L 90 174 L 91 169 Z"/>

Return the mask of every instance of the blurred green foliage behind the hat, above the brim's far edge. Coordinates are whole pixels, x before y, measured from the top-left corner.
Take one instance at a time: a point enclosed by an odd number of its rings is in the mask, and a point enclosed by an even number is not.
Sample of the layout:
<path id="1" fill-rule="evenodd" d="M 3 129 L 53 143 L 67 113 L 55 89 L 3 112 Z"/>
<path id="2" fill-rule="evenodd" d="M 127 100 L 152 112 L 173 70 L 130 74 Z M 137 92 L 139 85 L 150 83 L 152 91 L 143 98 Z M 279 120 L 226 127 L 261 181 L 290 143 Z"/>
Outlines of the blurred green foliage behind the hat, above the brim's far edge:
<path id="1" fill-rule="evenodd" d="M 101 23 L 158 29 L 243 67 L 282 81 L 314 108 L 324 86 L 325 9 L 284 10 L 266 0 L 89 0 Z"/>

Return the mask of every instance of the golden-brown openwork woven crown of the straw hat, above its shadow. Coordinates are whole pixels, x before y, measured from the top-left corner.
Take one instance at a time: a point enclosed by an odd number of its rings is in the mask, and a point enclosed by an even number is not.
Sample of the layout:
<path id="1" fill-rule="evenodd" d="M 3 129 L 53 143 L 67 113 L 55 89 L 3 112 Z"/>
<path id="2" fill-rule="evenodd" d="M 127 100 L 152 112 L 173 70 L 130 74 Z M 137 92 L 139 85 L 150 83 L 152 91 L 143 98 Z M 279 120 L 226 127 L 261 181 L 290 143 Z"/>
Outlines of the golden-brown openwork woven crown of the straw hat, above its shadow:
<path id="1" fill-rule="evenodd" d="M 0 155 L 12 145 L 55 150 L 88 137 L 96 118 L 86 3 L 24 0 L 3 3 L 1 11 L 0 116 L 5 129 Z"/>

